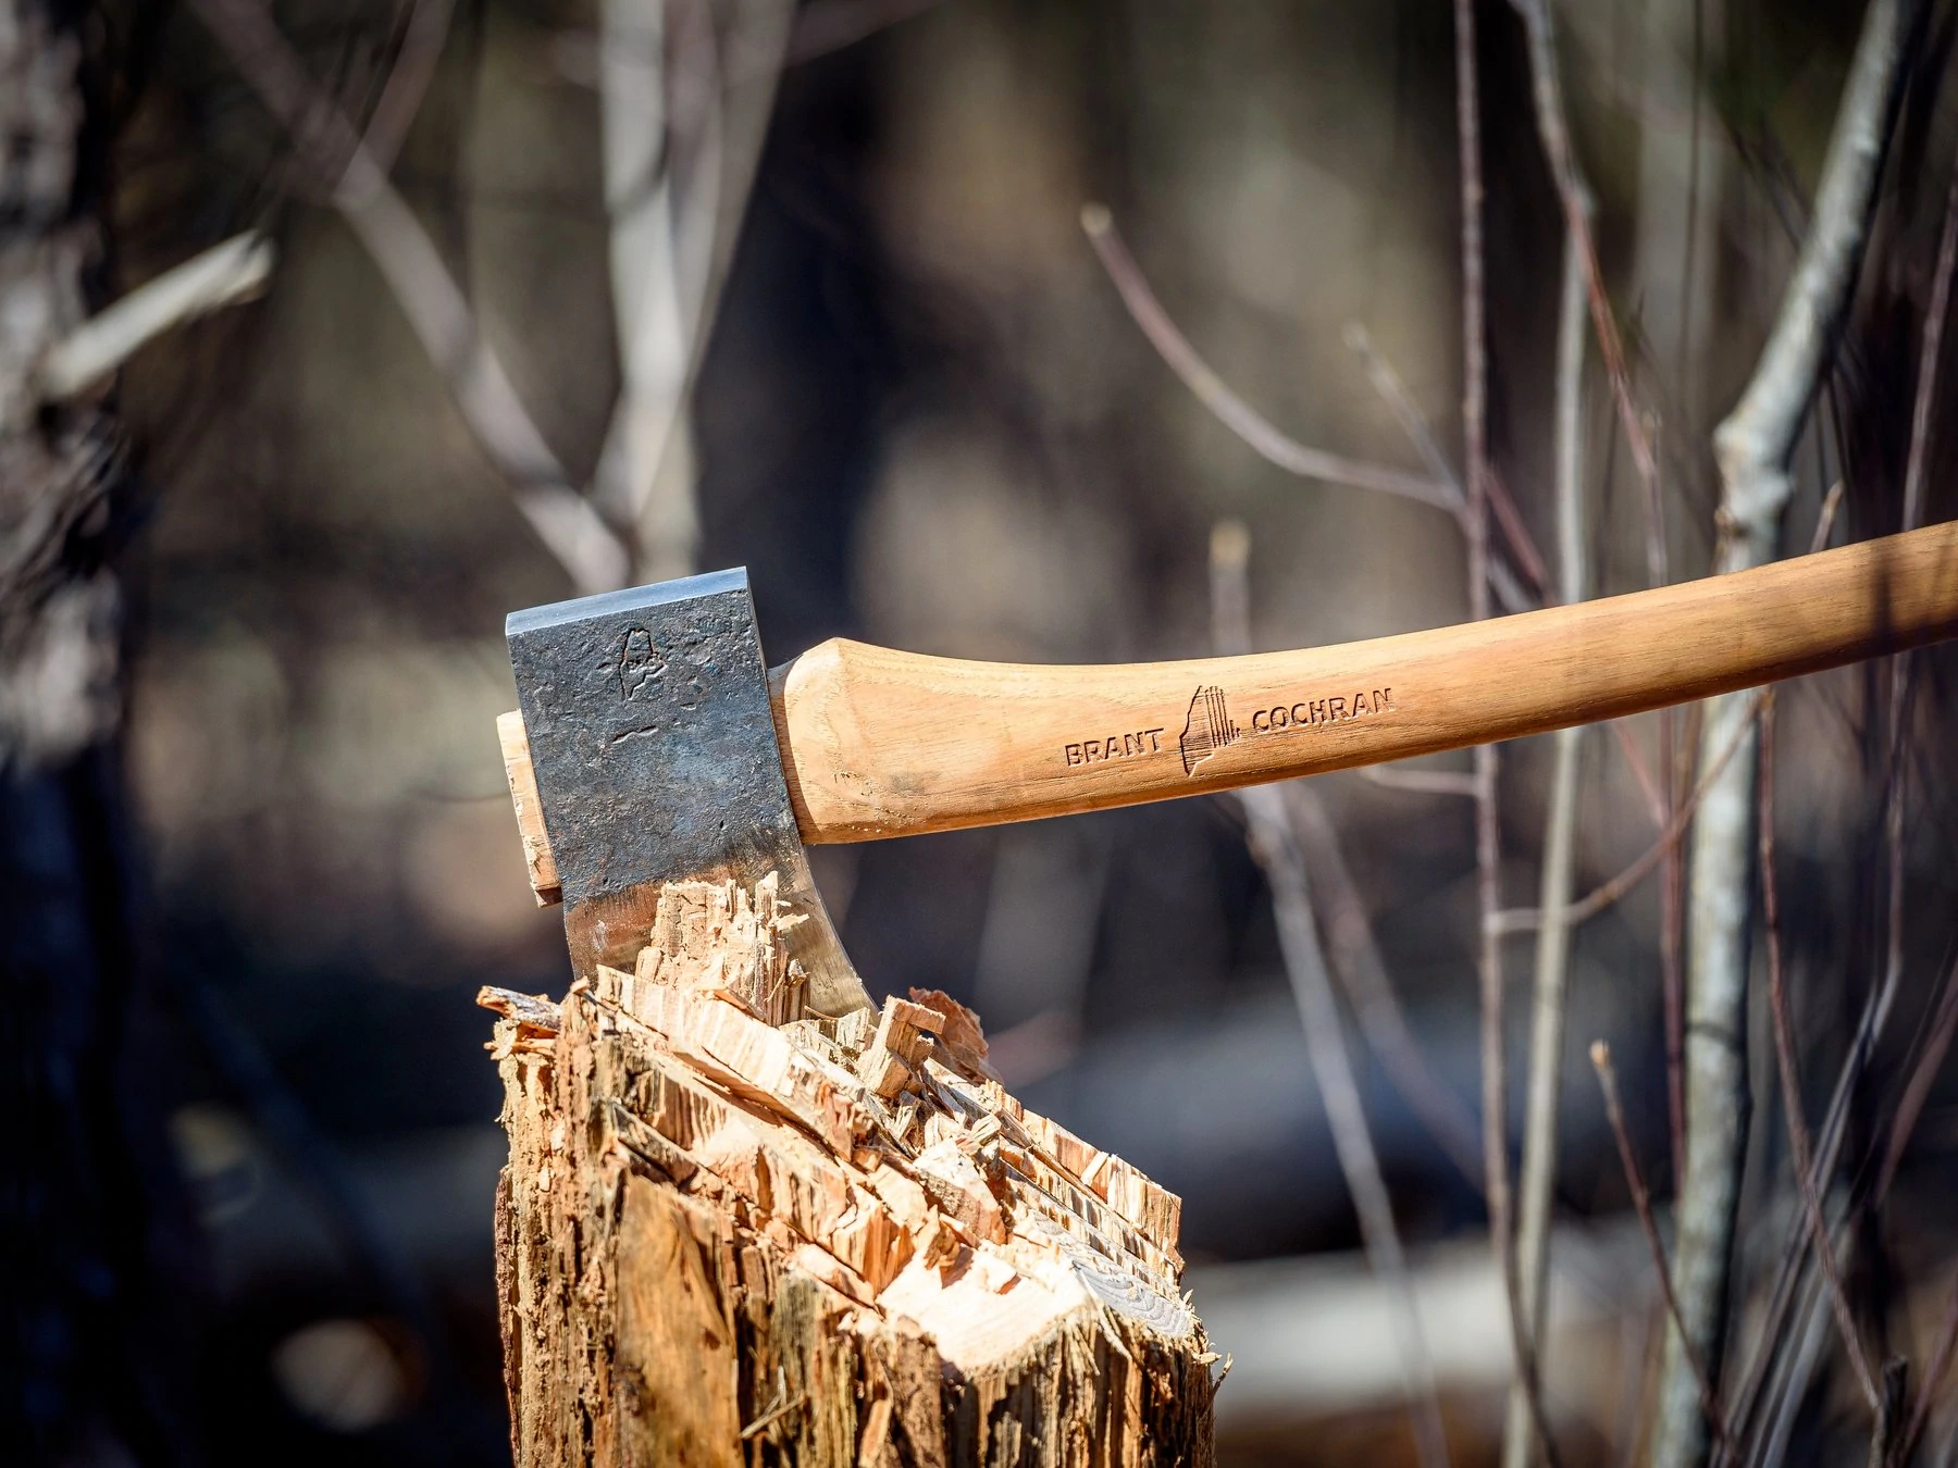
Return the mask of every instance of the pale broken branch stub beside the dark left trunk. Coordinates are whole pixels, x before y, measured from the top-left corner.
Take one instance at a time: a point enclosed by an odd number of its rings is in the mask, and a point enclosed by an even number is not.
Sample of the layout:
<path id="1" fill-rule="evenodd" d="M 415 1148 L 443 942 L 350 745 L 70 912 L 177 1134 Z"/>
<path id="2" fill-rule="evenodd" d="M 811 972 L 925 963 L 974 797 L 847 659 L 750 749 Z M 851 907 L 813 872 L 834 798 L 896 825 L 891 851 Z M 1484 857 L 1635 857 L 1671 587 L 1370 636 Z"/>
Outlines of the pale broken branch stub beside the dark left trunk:
<path id="1" fill-rule="evenodd" d="M 82 395 L 157 337 L 264 294 L 272 260 L 272 241 L 247 229 L 145 280 L 49 348 L 35 391 L 47 403 Z"/>

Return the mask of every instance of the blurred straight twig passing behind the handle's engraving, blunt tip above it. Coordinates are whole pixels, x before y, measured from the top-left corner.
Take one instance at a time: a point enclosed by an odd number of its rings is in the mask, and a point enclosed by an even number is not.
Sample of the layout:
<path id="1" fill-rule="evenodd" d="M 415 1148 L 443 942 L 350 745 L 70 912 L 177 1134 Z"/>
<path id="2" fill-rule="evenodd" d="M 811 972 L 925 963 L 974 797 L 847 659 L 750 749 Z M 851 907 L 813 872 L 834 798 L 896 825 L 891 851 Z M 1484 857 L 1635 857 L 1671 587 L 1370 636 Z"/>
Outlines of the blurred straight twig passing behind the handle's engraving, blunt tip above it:
<path id="1" fill-rule="evenodd" d="M 1224 656 L 1251 650 L 1247 560 L 1249 536 L 1245 528 L 1235 523 L 1218 525 L 1210 534 L 1210 615 L 1214 642 Z M 1445 1468 L 1449 1450 L 1441 1425 L 1441 1401 L 1435 1394 L 1433 1362 L 1414 1304 L 1414 1284 L 1400 1247 L 1400 1231 L 1394 1225 L 1394 1208 L 1380 1176 L 1380 1159 L 1367 1127 L 1359 1082 L 1353 1078 L 1339 1004 L 1333 1000 L 1331 981 L 1326 975 L 1326 955 L 1320 949 L 1318 926 L 1312 916 L 1306 863 L 1292 838 L 1284 797 L 1277 789 L 1259 785 L 1237 791 L 1237 801 L 1249 826 L 1251 855 L 1271 887 L 1284 973 L 1292 985 L 1312 1075 L 1318 1078 L 1326 1106 L 1333 1155 L 1339 1159 L 1339 1170 L 1359 1214 L 1367 1262 L 1394 1300 L 1394 1333 L 1400 1337 L 1400 1366 L 1414 1419 L 1416 1452 L 1423 1468 Z"/>

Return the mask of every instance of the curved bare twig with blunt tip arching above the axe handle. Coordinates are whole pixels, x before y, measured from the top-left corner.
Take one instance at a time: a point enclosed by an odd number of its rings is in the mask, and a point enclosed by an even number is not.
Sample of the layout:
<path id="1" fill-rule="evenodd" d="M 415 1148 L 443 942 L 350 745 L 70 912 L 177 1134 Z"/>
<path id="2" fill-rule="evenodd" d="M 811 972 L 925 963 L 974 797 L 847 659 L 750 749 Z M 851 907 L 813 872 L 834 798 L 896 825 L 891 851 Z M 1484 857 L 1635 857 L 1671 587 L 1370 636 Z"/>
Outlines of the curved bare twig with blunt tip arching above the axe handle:
<path id="1" fill-rule="evenodd" d="M 1163 309 L 1163 303 L 1155 299 L 1155 292 L 1149 290 L 1142 266 L 1136 264 L 1128 252 L 1128 245 L 1122 243 L 1122 235 L 1116 231 L 1108 209 L 1100 204 L 1083 206 L 1081 229 L 1095 247 L 1095 254 L 1100 258 L 1102 270 L 1108 272 L 1108 280 L 1122 296 L 1122 305 L 1128 307 L 1130 317 L 1142 329 L 1142 335 L 1149 339 L 1157 356 L 1196 395 L 1196 401 L 1249 444 L 1259 458 L 1308 480 L 1375 489 L 1384 495 L 1400 495 L 1402 499 L 1414 499 L 1416 503 L 1455 513 L 1457 495 L 1445 482 L 1308 448 L 1273 427 L 1263 413 L 1232 391 L 1230 384 L 1196 354 L 1196 348 L 1190 346 L 1177 323 L 1169 319 L 1169 311 Z"/>

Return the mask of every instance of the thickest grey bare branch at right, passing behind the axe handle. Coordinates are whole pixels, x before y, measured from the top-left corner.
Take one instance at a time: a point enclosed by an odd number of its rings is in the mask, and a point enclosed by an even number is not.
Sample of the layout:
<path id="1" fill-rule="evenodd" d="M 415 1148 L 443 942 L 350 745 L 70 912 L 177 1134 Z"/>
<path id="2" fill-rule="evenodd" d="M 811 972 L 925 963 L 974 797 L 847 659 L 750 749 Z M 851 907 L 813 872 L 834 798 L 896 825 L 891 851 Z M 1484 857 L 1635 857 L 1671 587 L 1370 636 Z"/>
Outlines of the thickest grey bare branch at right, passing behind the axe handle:
<path id="1" fill-rule="evenodd" d="M 1870 0 L 1864 12 L 1801 258 L 1754 376 L 1713 435 L 1723 480 L 1719 572 L 1774 558 L 1794 489 L 1790 462 L 1854 294 L 1901 90 L 1899 63 L 1917 10 L 1915 0 Z M 1747 1118 L 1743 1035 L 1754 793 L 1754 734 L 1747 714 L 1747 695 L 1723 695 L 1709 701 L 1700 732 L 1702 767 L 1711 767 L 1735 738 L 1741 744 L 1694 824 L 1678 1253 L 1686 1329 L 1668 1333 L 1655 1468 L 1690 1468 L 1705 1454 L 1686 1347 L 1717 1378 L 1727 1319 Z"/>

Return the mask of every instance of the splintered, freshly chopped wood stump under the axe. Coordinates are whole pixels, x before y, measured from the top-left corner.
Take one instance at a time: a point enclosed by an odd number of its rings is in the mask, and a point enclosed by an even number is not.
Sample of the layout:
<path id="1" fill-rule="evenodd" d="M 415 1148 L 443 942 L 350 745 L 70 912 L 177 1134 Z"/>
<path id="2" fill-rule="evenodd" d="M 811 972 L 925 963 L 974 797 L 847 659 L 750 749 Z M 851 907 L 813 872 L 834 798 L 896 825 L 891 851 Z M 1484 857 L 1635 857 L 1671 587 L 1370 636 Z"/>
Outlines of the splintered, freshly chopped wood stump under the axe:
<path id="1" fill-rule="evenodd" d="M 1179 1200 L 946 994 L 805 1014 L 781 922 L 674 885 L 634 973 L 482 994 L 517 1468 L 1212 1462 Z"/>

